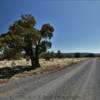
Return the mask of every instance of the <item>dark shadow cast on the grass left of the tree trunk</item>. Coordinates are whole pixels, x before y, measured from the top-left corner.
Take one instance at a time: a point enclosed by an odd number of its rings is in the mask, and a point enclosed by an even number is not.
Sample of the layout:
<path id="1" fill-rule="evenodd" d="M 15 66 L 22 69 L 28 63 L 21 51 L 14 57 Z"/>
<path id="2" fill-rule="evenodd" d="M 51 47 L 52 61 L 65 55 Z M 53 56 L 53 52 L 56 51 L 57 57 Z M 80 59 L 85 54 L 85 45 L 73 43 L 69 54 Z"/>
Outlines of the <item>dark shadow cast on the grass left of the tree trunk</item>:
<path id="1" fill-rule="evenodd" d="M 30 71 L 33 68 L 31 66 L 15 66 L 0 68 L 0 79 L 10 79 L 12 76 L 22 73 L 24 71 Z"/>

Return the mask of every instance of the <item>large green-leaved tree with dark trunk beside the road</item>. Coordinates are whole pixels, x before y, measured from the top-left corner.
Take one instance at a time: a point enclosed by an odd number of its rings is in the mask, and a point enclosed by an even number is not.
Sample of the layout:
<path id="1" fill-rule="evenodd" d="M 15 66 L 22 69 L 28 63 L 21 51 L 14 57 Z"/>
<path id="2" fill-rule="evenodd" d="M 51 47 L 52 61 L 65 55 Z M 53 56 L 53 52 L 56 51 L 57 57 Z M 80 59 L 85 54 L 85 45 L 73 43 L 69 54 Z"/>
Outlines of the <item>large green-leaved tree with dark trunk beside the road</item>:
<path id="1" fill-rule="evenodd" d="M 0 46 L 8 48 L 11 57 L 24 50 L 30 57 L 33 67 L 39 66 L 39 55 L 51 48 L 50 39 L 54 32 L 54 28 L 48 23 L 40 30 L 36 29 L 35 25 L 35 18 L 31 14 L 25 14 L 9 27 L 6 34 L 0 36 Z"/>

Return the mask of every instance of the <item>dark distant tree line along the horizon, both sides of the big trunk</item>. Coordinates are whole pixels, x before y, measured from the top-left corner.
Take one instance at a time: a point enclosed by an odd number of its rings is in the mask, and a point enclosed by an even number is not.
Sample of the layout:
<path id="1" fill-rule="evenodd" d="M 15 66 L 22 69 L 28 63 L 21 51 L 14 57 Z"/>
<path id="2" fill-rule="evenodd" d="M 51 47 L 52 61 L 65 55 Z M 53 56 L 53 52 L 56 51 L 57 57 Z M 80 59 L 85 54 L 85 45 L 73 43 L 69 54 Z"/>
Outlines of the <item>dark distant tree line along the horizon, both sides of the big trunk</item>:
<path id="1" fill-rule="evenodd" d="M 12 53 L 10 53 L 11 51 L 5 49 L 4 52 L 2 54 L 0 54 L 0 60 L 11 60 L 11 59 L 21 59 L 21 58 L 25 58 L 26 60 L 30 60 L 30 57 L 25 53 L 25 52 L 18 52 L 16 53 L 16 55 L 14 57 Z M 14 51 L 12 51 L 14 52 Z M 94 54 L 94 53 L 62 53 L 60 50 L 58 50 L 57 52 L 53 52 L 53 51 L 47 51 L 47 52 L 42 52 L 39 55 L 39 58 L 41 59 L 45 59 L 45 60 L 50 60 L 50 59 L 54 59 L 54 58 L 82 58 L 82 57 L 100 57 L 100 54 Z"/>

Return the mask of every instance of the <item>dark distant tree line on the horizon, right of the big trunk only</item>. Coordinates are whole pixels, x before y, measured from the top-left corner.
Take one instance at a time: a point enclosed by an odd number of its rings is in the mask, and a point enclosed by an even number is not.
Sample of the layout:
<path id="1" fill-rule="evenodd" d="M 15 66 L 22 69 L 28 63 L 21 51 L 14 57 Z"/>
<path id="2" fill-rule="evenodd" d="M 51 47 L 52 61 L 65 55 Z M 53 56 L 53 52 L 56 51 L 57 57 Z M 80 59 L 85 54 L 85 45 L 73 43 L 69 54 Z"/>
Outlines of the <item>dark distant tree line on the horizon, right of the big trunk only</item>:
<path id="1" fill-rule="evenodd" d="M 57 52 L 47 52 L 43 55 L 41 55 L 41 58 L 44 58 L 46 60 L 50 60 L 53 58 L 83 58 L 83 57 L 100 57 L 100 54 L 94 54 L 94 53 L 62 53 L 60 50 Z"/>

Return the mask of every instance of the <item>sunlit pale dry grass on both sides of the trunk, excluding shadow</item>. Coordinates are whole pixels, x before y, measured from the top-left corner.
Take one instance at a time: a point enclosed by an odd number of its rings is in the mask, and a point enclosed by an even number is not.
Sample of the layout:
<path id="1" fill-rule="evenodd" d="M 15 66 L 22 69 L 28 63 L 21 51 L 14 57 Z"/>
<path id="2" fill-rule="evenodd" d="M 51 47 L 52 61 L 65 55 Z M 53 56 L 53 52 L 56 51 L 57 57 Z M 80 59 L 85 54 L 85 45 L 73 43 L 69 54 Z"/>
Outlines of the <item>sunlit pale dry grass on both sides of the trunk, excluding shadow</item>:
<path id="1" fill-rule="evenodd" d="M 50 61 L 45 61 L 44 59 L 40 59 L 41 67 L 36 70 L 31 70 L 29 72 L 23 72 L 13 76 L 11 79 L 19 79 L 26 76 L 32 76 L 34 74 L 42 74 L 49 71 L 55 71 L 61 68 L 64 68 L 67 65 L 71 65 L 79 62 L 80 60 L 85 60 L 86 58 L 65 58 L 65 59 L 51 59 Z M 13 61 L 0 61 L 0 68 L 4 67 L 14 67 L 14 66 L 27 66 L 31 65 L 30 61 L 22 60 L 13 60 Z"/>

